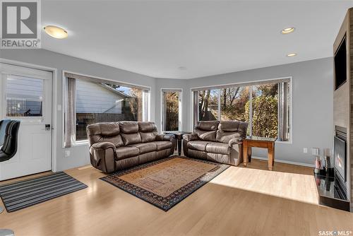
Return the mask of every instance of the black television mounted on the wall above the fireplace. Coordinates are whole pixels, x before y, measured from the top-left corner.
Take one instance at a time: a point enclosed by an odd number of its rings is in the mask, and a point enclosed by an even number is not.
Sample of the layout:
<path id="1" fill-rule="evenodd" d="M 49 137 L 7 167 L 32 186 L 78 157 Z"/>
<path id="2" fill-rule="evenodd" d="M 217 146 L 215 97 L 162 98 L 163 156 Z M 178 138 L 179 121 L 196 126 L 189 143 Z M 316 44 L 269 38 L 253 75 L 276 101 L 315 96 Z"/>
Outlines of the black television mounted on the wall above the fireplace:
<path id="1" fill-rule="evenodd" d="M 335 90 L 347 81 L 347 49 L 346 36 L 335 53 Z"/>

